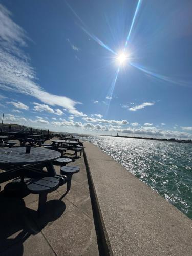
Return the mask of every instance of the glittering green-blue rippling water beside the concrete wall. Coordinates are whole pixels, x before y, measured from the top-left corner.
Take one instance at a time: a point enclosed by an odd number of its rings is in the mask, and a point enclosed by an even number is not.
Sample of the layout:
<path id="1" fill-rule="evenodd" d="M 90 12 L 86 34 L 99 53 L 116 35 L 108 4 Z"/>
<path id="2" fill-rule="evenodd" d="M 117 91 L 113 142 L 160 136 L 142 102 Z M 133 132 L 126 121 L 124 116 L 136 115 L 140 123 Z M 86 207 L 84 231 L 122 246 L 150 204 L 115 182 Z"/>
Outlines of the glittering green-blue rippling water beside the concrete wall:
<path id="1" fill-rule="evenodd" d="M 108 136 L 83 139 L 99 146 L 192 219 L 191 144 Z"/>

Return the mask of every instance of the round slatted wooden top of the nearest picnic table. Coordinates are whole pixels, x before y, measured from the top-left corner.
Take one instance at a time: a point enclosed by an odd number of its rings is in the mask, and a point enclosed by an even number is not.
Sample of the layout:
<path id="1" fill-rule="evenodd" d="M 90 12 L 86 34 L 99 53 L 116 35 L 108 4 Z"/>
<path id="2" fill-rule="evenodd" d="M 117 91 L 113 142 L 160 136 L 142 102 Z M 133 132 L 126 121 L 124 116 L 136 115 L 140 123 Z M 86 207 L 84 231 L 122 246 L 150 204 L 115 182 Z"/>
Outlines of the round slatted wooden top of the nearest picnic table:
<path id="1" fill-rule="evenodd" d="M 10 152 L 10 153 L 9 153 Z M 0 164 L 35 164 L 51 162 L 61 156 L 60 152 L 45 150 L 44 148 L 31 148 L 30 153 L 25 153 L 25 147 L 0 148 Z"/>

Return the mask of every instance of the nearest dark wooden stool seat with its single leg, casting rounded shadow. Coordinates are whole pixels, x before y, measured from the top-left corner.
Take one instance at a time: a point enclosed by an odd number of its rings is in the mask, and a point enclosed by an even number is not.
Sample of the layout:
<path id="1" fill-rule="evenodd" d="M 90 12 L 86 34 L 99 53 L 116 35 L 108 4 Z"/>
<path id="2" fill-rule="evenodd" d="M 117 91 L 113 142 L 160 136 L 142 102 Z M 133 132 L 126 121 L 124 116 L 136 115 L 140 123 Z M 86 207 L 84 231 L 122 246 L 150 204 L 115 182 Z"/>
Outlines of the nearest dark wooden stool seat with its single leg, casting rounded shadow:
<path id="1" fill-rule="evenodd" d="M 38 214 L 45 210 L 47 194 L 55 191 L 59 187 L 59 179 L 56 177 L 43 177 L 34 179 L 27 184 L 27 188 L 32 194 L 39 194 Z"/>

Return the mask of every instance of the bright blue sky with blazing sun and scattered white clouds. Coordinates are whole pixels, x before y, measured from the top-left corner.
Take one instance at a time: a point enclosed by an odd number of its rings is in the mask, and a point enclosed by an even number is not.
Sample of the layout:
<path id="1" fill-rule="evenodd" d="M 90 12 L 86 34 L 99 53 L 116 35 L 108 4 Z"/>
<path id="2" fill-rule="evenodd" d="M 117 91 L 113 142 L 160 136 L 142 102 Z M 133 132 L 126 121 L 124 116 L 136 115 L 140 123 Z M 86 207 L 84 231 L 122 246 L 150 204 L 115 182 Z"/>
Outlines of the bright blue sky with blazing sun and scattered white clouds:
<path id="1" fill-rule="evenodd" d="M 192 138 L 191 1 L 0 3 L 5 122 Z"/>

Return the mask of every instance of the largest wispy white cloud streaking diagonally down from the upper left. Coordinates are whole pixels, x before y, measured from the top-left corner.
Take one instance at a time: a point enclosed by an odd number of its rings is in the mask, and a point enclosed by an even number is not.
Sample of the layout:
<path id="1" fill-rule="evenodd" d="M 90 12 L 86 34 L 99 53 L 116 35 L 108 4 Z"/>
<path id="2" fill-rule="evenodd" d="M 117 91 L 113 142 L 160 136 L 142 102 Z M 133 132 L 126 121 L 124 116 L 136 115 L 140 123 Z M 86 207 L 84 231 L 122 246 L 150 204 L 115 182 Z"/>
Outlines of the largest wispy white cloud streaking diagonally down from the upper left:
<path id="1" fill-rule="evenodd" d="M 70 113 L 76 112 L 76 102 L 66 96 L 58 96 L 46 92 L 37 83 L 36 74 L 30 66 L 29 58 L 20 47 L 27 46 L 25 31 L 11 20 L 11 13 L 2 5 L 0 6 L 0 88 L 33 96 L 51 106 L 61 106 Z M 28 61 L 26 61 L 28 59 Z M 55 85 L 54 85 L 55 86 Z"/>

